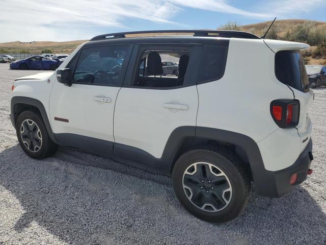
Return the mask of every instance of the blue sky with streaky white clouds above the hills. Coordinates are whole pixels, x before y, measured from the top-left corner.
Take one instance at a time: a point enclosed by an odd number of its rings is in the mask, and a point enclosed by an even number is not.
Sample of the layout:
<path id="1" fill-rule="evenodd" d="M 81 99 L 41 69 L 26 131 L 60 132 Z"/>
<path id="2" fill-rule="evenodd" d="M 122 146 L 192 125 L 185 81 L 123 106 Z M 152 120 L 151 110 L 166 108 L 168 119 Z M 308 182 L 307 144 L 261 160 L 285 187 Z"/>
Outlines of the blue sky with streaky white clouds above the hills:
<path id="1" fill-rule="evenodd" d="M 0 42 L 70 41 L 126 31 L 216 29 L 228 21 L 326 21 L 326 0 L 0 0 Z"/>

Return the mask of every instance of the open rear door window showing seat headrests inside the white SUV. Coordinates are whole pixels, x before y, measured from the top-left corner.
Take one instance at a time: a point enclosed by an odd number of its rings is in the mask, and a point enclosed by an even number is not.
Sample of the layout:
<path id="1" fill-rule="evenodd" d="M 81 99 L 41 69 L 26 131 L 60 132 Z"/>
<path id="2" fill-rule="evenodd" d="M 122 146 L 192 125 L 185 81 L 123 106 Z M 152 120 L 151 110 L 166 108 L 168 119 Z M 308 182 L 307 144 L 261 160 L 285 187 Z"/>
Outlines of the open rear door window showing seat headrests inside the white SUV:
<path id="1" fill-rule="evenodd" d="M 186 79 L 189 59 L 189 51 L 146 50 L 140 57 L 138 76 L 133 86 L 153 88 L 182 86 Z M 175 62 L 179 62 L 179 65 L 172 66 Z"/>

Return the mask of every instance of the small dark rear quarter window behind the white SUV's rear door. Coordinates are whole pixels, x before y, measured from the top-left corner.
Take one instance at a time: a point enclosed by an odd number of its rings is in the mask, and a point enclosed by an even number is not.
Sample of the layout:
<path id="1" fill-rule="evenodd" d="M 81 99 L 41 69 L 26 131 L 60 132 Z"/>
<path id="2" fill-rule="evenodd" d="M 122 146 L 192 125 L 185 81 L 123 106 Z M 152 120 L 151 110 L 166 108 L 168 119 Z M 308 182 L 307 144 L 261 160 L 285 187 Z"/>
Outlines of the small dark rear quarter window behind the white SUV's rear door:
<path id="1" fill-rule="evenodd" d="M 203 83 L 221 79 L 225 71 L 227 54 L 227 47 L 204 45 L 198 82 Z"/>

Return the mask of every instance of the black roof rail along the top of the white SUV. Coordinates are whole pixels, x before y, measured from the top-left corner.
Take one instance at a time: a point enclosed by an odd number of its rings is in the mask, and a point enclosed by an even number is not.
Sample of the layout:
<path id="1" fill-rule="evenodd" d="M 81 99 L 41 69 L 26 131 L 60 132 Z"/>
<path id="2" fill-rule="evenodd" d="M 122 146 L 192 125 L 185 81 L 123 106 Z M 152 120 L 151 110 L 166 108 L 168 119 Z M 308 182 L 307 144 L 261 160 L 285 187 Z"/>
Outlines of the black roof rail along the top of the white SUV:
<path id="1" fill-rule="evenodd" d="M 156 30 L 156 31 L 139 31 L 139 32 L 118 32 L 103 34 L 93 37 L 90 41 L 113 39 L 113 38 L 125 38 L 126 35 L 132 34 L 151 34 L 151 33 L 194 33 L 193 36 L 197 37 L 237 37 L 237 38 L 249 38 L 249 39 L 260 39 L 260 37 L 249 33 L 240 31 L 225 31 L 225 30 Z M 213 35 L 212 35 L 213 34 Z M 215 35 L 214 35 L 215 34 Z"/>

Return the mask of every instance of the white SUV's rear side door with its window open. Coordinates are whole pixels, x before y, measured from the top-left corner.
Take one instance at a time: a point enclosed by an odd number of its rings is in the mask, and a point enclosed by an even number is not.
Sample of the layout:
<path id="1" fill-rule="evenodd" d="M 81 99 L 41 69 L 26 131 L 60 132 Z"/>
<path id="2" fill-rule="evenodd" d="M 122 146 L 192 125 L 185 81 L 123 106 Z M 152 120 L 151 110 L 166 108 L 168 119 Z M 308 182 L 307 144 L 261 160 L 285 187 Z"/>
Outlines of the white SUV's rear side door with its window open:
<path id="1" fill-rule="evenodd" d="M 161 158 L 175 129 L 196 126 L 200 52 L 197 44 L 135 45 L 116 102 L 115 155 L 128 158 L 127 148 Z M 181 56 L 185 73 L 162 75 L 162 57 L 172 60 Z"/>

